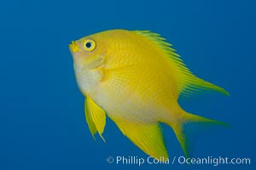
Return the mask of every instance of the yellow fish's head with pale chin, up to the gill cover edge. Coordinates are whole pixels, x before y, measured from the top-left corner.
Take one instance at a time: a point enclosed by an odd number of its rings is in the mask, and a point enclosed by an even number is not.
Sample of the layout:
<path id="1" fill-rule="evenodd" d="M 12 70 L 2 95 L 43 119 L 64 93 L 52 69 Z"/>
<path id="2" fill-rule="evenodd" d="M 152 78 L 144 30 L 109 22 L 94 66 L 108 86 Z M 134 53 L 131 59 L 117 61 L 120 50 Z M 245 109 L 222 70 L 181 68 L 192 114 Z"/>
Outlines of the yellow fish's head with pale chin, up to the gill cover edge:
<path id="1" fill-rule="evenodd" d="M 76 80 L 83 94 L 88 94 L 102 80 L 108 44 L 100 34 L 82 37 L 69 44 Z"/>

